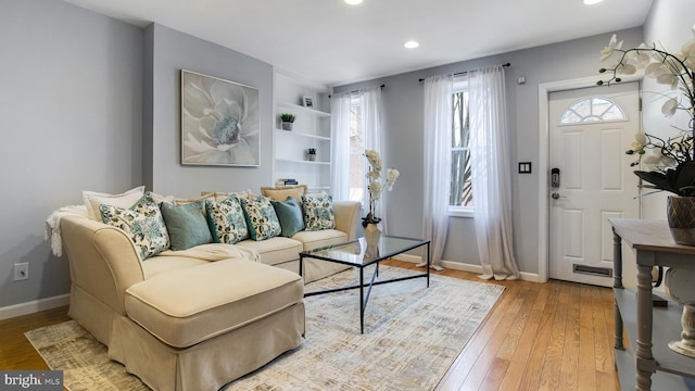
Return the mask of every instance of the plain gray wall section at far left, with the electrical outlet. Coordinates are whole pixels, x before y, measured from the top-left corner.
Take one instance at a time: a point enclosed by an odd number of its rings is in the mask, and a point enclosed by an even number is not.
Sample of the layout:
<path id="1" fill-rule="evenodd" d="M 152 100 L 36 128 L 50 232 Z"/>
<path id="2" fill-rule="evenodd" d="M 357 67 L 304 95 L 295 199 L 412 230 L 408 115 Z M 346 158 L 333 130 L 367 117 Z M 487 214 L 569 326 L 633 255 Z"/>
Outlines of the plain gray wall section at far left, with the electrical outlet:
<path id="1" fill-rule="evenodd" d="M 142 181 L 142 30 L 53 0 L 0 0 L 0 307 L 70 291 L 43 220 Z M 135 157 L 135 159 L 134 159 Z M 13 265 L 29 279 L 13 281 Z"/>

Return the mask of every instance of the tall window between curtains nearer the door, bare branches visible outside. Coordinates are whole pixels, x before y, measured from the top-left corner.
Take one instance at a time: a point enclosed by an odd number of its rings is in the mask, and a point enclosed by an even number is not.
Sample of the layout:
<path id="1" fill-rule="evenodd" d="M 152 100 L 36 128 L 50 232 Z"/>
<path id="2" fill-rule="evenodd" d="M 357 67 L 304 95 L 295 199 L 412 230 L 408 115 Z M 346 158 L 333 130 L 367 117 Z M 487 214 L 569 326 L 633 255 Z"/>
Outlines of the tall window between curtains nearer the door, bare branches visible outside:
<path id="1" fill-rule="evenodd" d="M 473 193 L 471 182 L 470 115 L 468 91 L 462 83 L 454 84 L 452 103 L 452 178 L 448 195 L 451 214 L 468 215 L 472 212 Z"/>

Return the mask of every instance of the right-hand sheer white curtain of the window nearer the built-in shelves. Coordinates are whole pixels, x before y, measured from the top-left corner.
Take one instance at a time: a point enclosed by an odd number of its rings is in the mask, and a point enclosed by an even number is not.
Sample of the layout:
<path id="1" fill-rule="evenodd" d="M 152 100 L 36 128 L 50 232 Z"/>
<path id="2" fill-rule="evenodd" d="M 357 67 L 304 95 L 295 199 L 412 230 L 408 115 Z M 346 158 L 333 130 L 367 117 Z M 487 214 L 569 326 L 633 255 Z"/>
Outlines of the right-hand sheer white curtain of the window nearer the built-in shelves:
<path id="1" fill-rule="evenodd" d="M 357 91 L 357 94 L 359 99 L 362 99 L 362 131 L 365 149 L 377 151 L 381 159 L 384 160 L 384 151 L 381 149 L 381 87 L 366 88 Z M 374 212 L 375 216 L 381 218 L 380 225 L 383 234 L 389 232 L 386 213 L 387 201 L 388 195 L 386 192 L 382 192 L 381 199 L 376 203 L 376 211 Z M 363 211 L 369 209 L 369 193 L 367 191 L 365 191 L 365 197 L 362 200 L 362 207 Z"/>

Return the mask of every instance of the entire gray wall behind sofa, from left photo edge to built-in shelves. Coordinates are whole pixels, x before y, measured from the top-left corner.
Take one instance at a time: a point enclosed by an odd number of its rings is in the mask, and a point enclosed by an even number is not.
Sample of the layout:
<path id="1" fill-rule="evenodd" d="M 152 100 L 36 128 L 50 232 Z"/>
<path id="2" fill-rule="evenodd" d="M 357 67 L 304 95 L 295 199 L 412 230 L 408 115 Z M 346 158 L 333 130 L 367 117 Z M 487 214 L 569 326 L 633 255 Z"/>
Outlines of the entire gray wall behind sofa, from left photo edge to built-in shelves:
<path id="1" fill-rule="evenodd" d="M 0 308 L 70 292 L 43 222 L 83 190 L 194 197 L 271 184 L 271 65 L 54 0 L 0 0 Z M 181 68 L 258 88 L 260 167 L 180 165 Z M 29 280 L 15 282 L 21 262 Z"/>

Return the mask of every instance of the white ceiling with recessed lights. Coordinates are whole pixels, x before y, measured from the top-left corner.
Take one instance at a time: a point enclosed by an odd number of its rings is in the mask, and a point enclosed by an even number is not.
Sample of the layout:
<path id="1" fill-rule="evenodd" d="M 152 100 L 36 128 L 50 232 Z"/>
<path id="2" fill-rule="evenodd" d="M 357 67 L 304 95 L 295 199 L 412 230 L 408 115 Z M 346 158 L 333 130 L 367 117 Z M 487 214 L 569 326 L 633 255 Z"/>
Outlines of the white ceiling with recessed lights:
<path id="1" fill-rule="evenodd" d="M 653 0 L 65 1 L 139 26 L 155 22 L 342 85 L 642 26 Z M 420 47 L 403 48 L 409 39 Z"/>

